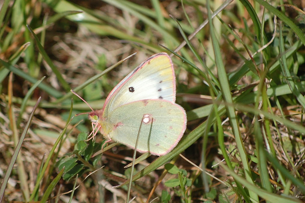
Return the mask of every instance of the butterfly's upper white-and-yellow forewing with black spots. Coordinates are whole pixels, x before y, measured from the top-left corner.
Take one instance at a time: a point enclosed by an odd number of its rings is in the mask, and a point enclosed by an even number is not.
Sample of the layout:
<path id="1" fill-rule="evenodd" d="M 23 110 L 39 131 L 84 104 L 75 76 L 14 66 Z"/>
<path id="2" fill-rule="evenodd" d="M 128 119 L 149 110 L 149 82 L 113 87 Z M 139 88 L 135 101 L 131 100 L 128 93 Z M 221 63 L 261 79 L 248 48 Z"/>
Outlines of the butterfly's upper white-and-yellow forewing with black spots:
<path id="1" fill-rule="evenodd" d="M 107 97 L 104 116 L 121 105 L 148 99 L 176 100 L 174 67 L 167 53 L 149 57 L 128 74 Z"/>

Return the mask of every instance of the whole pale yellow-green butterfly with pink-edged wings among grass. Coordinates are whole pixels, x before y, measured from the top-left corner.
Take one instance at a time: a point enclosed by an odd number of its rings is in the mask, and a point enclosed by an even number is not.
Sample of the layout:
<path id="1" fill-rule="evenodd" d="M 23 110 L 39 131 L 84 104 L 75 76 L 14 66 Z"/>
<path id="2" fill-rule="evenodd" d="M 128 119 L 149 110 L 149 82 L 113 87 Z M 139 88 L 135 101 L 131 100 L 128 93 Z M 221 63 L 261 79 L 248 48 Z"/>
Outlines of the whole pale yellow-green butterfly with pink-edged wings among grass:
<path id="1" fill-rule="evenodd" d="M 108 141 L 133 149 L 140 129 L 137 151 L 161 156 L 178 144 L 186 129 L 185 110 L 175 101 L 173 62 L 167 53 L 157 53 L 119 82 L 103 108 L 91 109 L 88 118 Z"/>

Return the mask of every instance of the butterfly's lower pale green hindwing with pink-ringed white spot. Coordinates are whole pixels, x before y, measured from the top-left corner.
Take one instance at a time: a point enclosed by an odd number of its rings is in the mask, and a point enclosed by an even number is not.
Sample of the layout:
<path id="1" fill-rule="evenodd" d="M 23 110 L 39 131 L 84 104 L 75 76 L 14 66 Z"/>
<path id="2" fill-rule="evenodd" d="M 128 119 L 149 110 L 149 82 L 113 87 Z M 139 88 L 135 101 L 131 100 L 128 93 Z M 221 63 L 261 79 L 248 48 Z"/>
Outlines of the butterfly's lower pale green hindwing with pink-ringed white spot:
<path id="1" fill-rule="evenodd" d="M 108 122 L 113 126 L 109 137 L 132 148 L 142 122 L 137 150 L 160 156 L 171 151 L 181 139 L 186 113 L 167 100 L 140 100 L 117 107 L 109 114 Z"/>

